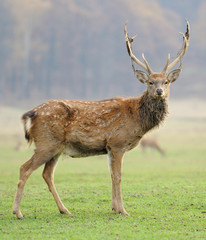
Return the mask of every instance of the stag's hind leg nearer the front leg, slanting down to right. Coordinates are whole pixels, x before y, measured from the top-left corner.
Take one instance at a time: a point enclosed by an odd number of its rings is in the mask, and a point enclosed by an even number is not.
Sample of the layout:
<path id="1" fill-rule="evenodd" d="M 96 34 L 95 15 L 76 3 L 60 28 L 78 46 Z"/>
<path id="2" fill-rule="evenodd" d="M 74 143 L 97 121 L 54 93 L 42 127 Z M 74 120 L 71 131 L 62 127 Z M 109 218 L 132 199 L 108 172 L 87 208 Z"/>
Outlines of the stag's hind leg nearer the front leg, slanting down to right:
<path id="1" fill-rule="evenodd" d="M 68 215 L 71 215 L 69 210 L 62 203 L 54 185 L 54 170 L 55 170 L 55 166 L 57 164 L 59 156 L 60 156 L 59 154 L 56 155 L 49 162 L 45 164 L 42 176 L 48 185 L 49 191 L 52 193 L 54 197 L 54 200 L 59 208 L 60 213 L 62 214 L 66 213 Z"/>

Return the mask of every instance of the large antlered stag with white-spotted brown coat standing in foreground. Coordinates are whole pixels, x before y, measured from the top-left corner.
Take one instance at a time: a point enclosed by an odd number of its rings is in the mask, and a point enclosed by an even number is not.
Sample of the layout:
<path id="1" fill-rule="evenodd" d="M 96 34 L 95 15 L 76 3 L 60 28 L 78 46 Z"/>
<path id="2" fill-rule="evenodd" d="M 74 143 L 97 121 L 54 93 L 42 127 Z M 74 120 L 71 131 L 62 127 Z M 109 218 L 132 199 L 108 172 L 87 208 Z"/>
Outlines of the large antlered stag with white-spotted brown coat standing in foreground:
<path id="1" fill-rule="evenodd" d="M 102 101 L 49 100 L 22 116 L 25 138 L 34 142 L 33 156 L 20 167 L 13 213 L 23 219 L 20 211 L 23 189 L 27 179 L 41 165 L 43 179 L 54 197 L 59 212 L 71 215 L 64 206 L 54 185 L 54 170 L 62 153 L 72 158 L 107 154 L 112 182 L 111 208 L 116 214 L 129 215 L 123 206 L 121 176 L 123 156 L 135 148 L 141 138 L 157 128 L 168 114 L 169 86 L 182 70 L 182 58 L 189 46 L 190 25 L 186 20 L 183 47 L 169 64 L 170 54 L 162 72 L 153 72 L 144 54 L 143 62 L 133 54 L 127 23 L 125 42 L 131 58 L 134 75 L 146 84 L 139 97 L 115 97 Z M 171 70 L 178 62 L 180 66 Z M 135 69 L 134 63 L 145 71 Z"/>

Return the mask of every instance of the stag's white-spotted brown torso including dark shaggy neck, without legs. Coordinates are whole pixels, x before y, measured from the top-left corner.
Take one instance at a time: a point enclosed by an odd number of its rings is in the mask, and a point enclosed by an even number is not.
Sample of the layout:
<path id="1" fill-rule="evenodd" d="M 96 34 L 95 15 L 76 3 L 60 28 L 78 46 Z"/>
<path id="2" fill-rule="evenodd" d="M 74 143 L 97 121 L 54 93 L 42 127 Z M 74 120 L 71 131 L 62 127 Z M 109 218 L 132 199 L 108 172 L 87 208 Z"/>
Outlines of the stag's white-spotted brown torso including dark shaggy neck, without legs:
<path id="1" fill-rule="evenodd" d="M 159 126 L 166 114 L 166 101 L 150 98 L 145 92 L 140 98 L 98 102 L 52 100 L 25 113 L 22 119 L 31 118 L 25 136 L 38 148 L 44 150 L 56 141 L 62 151 L 69 145 L 77 152 L 71 156 L 81 157 L 106 154 L 110 145 L 118 151 L 130 150 L 147 131 Z"/>

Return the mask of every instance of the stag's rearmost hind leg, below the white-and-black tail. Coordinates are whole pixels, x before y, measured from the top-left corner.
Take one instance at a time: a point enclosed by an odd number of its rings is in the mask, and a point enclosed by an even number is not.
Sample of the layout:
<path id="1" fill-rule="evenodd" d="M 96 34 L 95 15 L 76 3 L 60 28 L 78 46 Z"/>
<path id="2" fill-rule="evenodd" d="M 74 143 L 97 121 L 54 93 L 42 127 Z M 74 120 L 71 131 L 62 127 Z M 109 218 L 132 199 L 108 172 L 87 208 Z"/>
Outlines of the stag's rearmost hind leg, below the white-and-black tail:
<path id="1" fill-rule="evenodd" d="M 24 218 L 20 211 L 20 203 L 22 199 L 22 194 L 24 190 L 24 186 L 26 184 L 27 179 L 42 164 L 49 161 L 54 156 L 53 151 L 36 151 L 31 159 L 25 162 L 20 167 L 19 181 L 17 184 L 16 196 L 13 204 L 13 213 L 16 214 L 17 218 Z"/>

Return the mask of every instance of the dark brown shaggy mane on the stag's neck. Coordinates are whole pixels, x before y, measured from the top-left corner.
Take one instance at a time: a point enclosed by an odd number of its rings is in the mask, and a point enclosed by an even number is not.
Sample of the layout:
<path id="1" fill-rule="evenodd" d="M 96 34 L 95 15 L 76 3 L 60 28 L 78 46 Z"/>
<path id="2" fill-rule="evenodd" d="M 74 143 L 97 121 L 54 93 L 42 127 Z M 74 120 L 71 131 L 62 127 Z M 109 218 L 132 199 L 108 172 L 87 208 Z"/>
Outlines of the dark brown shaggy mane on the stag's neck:
<path id="1" fill-rule="evenodd" d="M 158 127 L 168 114 L 167 99 L 157 99 L 144 92 L 139 105 L 140 124 L 143 133 Z"/>

